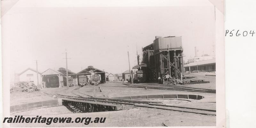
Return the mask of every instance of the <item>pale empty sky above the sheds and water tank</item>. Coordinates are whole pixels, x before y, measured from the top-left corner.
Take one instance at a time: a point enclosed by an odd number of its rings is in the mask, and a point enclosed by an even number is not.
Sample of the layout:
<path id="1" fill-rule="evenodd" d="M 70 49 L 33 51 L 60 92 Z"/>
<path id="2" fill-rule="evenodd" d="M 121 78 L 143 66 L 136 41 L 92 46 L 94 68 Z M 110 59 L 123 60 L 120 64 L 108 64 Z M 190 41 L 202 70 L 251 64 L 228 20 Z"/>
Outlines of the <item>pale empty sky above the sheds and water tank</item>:
<path id="1" fill-rule="evenodd" d="M 17 3 L 18 4 L 18 3 Z M 19 4 L 18 4 L 19 5 Z M 80 72 L 94 66 L 121 73 L 137 64 L 155 36 L 182 36 L 184 59 L 213 55 L 215 45 L 214 6 L 172 7 L 20 7 L 13 6 L 2 25 L 11 38 L 10 72 L 28 67 L 44 72 L 66 68 Z M 8 22 L 7 22 L 8 21 Z M 3 31 L 4 32 L 4 31 Z"/>

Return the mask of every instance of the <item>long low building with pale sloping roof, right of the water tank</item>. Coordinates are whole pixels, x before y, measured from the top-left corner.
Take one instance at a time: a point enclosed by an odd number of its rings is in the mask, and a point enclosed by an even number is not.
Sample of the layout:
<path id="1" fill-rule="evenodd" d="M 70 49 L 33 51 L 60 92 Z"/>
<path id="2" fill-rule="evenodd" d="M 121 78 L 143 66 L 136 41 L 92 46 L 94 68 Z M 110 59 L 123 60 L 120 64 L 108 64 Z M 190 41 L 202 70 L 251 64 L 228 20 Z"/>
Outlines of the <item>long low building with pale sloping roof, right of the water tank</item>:
<path id="1" fill-rule="evenodd" d="M 186 72 L 200 71 L 200 72 L 212 72 L 216 71 L 216 60 L 204 60 L 198 62 L 192 62 L 184 65 Z"/>

